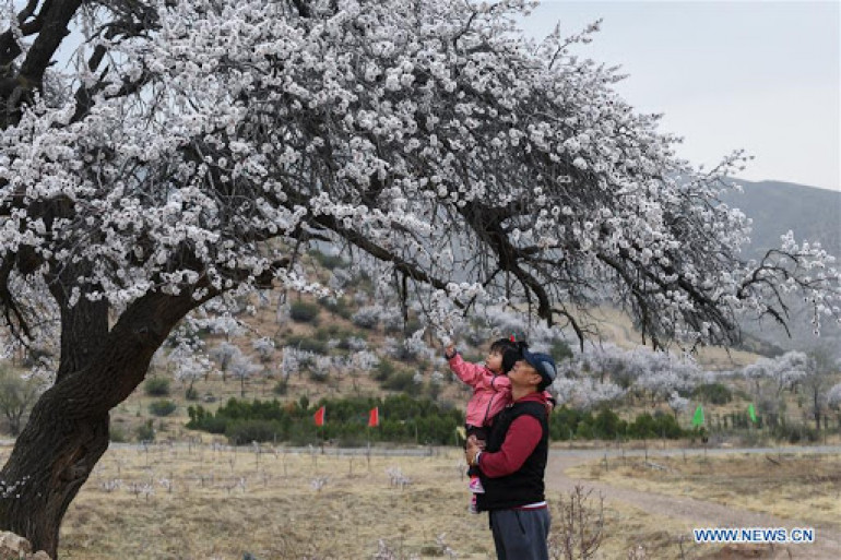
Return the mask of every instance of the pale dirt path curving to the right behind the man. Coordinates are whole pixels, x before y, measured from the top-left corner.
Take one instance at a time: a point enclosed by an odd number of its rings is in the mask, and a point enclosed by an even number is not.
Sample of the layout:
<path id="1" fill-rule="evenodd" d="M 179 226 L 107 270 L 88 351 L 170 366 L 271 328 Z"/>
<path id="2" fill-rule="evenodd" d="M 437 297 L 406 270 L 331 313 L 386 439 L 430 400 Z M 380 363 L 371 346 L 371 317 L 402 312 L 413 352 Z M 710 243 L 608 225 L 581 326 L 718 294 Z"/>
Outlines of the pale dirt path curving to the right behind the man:
<path id="1" fill-rule="evenodd" d="M 735 450 L 734 450 L 735 451 Z M 798 450 L 803 452 L 803 450 Z M 841 525 L 815 525 L 814 523 L 797 520 L 781 519 L 773 515 L 757 513 L 747 510 L 737 510 L 714 502 L 697 500 L 687 497 L 675 497 L 650 491 L 619 488 L 599 480 L 580 480 L 567 476 L 566 469 L 597 461 L 603 452 L 570 452 L 555 450 L 549 456 L 546 468 L 547 493 L 566 492 L 572 490 L 577 484 L 584 488 L 593 488 L 601 492 L 605 502 L 625 503 L 639 508 L 648 513 L 683 520 L 687 524 L 687 541 L 691 543 L 691 528 L 694 527 L 814 527 L 815 543 L 810 545 L 789 545 L 778 547 L 778 553 L 773 557 L 753 558 L 802 558 L 809 560 L 839 560 L 841 559 Z M 721 545 L 719 548 L 723 547 Z M 713 552 L 715 548 L 710 547 Z M 746 558 L 743 556 L 711 556 L 710 558 Z"/>

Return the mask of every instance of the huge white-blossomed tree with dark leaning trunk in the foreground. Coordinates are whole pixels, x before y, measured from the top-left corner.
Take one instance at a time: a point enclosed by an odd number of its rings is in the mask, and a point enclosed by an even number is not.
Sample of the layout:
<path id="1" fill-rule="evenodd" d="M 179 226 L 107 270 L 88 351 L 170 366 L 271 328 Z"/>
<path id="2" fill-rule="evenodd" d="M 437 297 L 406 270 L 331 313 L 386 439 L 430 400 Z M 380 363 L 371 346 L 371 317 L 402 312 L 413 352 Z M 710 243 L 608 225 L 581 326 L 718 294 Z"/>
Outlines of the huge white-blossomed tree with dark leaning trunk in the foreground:
<path id="1" fill-rule="evenodd" d="M 15 3 L 7 4 L 9 7 Z M 0 17 L 0 303 L 60 339 L 55 384 L 0 473 L 0 527 L 56 553 L 108 414 L 190 310 L 285 285 L 343 243 L 469 308 L 573 318 L 612 295 L 655 346 L 731 343 L 786 293 L 839 314 L 839 277 L 787 237 L 742 262 L 719 202 L 744 156 L 696 172 L 614 91 L 615 69 L 522 0 L 31 0 Z M 24 5 L 25 4 L 25 5 Z M 59 47 L 82 41 L 75 68 Z M 594 31 L 589 29 L 589 31 Z"/>

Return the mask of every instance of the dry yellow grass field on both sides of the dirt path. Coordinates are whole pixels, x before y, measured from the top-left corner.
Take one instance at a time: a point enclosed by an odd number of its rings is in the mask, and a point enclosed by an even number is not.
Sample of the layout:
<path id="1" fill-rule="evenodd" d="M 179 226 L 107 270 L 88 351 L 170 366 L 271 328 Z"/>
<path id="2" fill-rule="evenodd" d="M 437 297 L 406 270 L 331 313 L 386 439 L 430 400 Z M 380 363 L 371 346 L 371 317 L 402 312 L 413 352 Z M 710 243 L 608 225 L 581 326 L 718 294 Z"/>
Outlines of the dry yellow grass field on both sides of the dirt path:
<path id="1" fill-rule="evenodd" d="M 0 462 L 10 448 L 0 448 Z M 62 559 L 240 560 L 494 558 L 485 515 L 469 515 L 462 453 L 336 456 L 320 450 L 218 444 L 114 445 L 71 504 Z M 733 508 L 837 523 L 841 457 L 765 456 L 656 460 L 667 470 L 589 464 L 572 477 Z M 618 461 L 618 460 L 617 460 Z M 754 491 L 756 490 L 756 491 Z M 562 496 L 549 491 L 553 532 Z M 564 495 L 566 496 L 566 495 Z M 782 497 L 785 497 L 783 499 Z M 609 500 L 595 559 L 702 559 L 718 547 L 688 541 L 686 523 Z M 591 496 L 588 504 L 599 502 Z M 555 541 L 557 544 L 557 540 Z M 556 551 L 558 549 L 556 548 Z M 683 552 L 682 552 L 683 551 Z M 683 556 L 682 556 L 683 555 Z M 557 558 L 561 558 L 558 556 Z"/>

